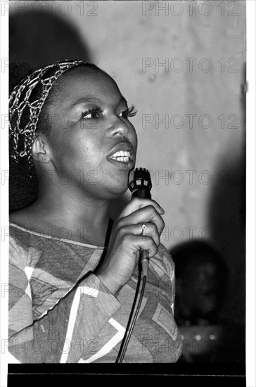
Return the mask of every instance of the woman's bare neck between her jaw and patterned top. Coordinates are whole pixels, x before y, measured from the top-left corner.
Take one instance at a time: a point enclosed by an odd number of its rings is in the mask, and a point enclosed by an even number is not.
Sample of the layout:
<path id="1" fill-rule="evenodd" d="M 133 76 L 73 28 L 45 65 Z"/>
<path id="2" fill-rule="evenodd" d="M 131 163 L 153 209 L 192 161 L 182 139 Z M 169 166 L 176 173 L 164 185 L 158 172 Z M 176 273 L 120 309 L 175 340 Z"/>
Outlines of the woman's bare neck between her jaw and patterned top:
<path id="1" fill-rule="evenodd" d="M 39 186 L 30 210 L 41 224 L 71 233 L 69 239 L 103 246 L 108 230 L 110 201 L 89 195 L 71 184 Z M 60 236 L 58 234 L 58 236 Z"/>

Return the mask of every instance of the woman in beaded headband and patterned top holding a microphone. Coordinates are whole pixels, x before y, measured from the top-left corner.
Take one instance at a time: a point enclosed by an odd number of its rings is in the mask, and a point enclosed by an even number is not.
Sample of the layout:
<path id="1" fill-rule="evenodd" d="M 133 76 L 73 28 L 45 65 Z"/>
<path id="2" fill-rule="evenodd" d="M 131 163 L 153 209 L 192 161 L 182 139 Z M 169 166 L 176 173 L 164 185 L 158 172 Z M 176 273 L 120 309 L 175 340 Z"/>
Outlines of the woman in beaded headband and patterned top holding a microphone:
<path id="1" fill-rule="evenodd" d="M 136 159 L 133 110 L 109 75 L 83 61 L 44 66 L 11 94 L 11 156 L 39 182 L 34 203 L 10 216 L 9 350 L 20 362 L 115 362 L 141 249 L 149 273 L 124 361 L 179 358 L 164 211 L 134 198 L 112 229 L 108 215 Z"/>

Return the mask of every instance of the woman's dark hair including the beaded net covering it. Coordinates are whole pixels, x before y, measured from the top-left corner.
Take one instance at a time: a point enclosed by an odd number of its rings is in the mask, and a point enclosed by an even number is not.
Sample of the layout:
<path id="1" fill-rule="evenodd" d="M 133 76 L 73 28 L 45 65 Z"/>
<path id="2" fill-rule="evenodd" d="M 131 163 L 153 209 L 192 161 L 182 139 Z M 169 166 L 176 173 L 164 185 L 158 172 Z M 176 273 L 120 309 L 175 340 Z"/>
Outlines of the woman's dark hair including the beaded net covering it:
<path id="1" fill-rule="evenodd" d="M 25 63 L 21 65 L 11 63 L 9 71 L 10 212 L 27 207 L 37 198 L 38 181 L 31 154 L 34 137 L 36 133 L 48 136 L 51 132 L 47 107 L 56 98 L 58 80 L 65 72 L 78 66 L 101 70 L 94 63 L 82 60 L 58 61 L 44 65 L 38 70 L 32 70 Z M 23 77 L 25 72 L 27 75 Z"/>

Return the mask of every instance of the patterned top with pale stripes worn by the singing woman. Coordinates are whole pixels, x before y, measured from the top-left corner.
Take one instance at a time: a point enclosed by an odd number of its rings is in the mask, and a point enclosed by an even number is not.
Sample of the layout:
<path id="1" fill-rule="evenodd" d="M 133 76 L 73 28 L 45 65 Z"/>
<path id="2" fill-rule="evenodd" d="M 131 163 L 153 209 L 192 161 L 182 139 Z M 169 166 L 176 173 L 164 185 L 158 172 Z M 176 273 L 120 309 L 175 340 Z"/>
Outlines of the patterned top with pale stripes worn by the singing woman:
<path id="1" fill-rule="evenodd" d="M 139 272 L 113 296 L 94 268 L 103 248 L 10 224 L 9 362 L 115 362 Z M 124 362 L 176 362 L 174 262 L 151 258 Z"/>

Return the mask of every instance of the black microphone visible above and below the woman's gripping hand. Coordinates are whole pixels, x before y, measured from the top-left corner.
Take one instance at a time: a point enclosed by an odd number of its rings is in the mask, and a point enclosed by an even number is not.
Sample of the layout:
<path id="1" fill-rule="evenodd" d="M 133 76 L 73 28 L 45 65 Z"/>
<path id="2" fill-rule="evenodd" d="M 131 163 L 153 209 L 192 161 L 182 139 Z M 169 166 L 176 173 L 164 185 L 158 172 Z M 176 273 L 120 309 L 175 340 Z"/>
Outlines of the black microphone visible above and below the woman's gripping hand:
<path id="1" fill-rule="evenodd" d="M 151 199 L 151 175 L 145 168 L 135 168 L 129 172 L 128 188 L 132 192 L 132 198 Z M 140 253 L 143 277 L 148 274 L 148 250 L 141 249 Z"/>

